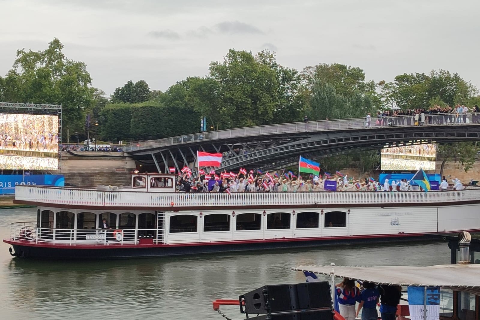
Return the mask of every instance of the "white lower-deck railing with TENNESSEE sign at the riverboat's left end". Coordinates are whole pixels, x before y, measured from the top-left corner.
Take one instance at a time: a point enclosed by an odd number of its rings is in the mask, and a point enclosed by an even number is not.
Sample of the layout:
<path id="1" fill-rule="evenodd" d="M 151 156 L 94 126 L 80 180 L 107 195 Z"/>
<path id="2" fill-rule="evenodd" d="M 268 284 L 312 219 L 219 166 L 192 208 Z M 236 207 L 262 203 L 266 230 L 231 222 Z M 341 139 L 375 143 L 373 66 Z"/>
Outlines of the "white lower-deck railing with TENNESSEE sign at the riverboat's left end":
<path id="1" fill-rule="evenodd" d="M 136 245 L 162 243 L 156 229 L 52 229 L 37 227 L 36 222 L 15 222 L 10 225 L 10 238 L 35 243 L 80 245 Z"/>

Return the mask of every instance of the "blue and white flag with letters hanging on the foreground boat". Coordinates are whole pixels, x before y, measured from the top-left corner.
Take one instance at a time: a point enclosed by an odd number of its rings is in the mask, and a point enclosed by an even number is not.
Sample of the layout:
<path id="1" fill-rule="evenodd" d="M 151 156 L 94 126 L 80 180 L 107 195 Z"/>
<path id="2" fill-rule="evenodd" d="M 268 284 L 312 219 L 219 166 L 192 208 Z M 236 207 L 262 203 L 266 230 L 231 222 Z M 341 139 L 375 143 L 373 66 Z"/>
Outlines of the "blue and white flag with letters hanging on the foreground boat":
<path id="1" fill-rule="evenodd" d="M 425 287 L 408 287 L 408 309 L 411 320 L 423 320 L 425 305 Z M 440 319 L 440 288 L 427 287 L 426 291 L 427 319 Z"/>

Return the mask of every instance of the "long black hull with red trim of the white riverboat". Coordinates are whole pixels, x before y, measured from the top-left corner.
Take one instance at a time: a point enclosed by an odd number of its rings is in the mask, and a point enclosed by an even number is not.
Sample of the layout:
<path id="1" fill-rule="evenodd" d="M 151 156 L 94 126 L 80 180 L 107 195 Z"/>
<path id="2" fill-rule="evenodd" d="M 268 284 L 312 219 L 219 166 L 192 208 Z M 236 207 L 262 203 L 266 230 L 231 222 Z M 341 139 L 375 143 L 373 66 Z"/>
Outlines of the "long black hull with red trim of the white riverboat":
<path id="1" fill-rule="evenodd" d="M 99 245 L 56 246 L 29 244 L 27 241 L 5 239 L 13 247 L 12 256 L 34 259 L 127 259 L 158 258 L 182 255 L 245 252 L 253 250 L 282 250 L 295 248 L 322 248 L 348 244 L 372 245 L 382 243 L 405 243 L 438 239 L 430 234 L 398 234 L 373 237 L 331 237 L 318 240 L 275 239 L 274 241 L 242 241 L 228 243 L 200 243 L 188 246 L 172 245 Z"/>

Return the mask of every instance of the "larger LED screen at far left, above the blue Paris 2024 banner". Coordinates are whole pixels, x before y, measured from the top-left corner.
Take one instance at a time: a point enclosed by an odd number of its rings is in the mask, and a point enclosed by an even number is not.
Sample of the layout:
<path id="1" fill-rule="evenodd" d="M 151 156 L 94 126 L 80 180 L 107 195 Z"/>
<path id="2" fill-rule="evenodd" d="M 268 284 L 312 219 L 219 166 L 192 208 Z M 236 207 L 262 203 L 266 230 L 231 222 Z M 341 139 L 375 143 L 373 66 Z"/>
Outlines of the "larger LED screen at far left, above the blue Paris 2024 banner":
<path id="1" fill-rule="evenodd" d="M 1 170 L 57 170 L 56 115 L 0 113 Z"/>

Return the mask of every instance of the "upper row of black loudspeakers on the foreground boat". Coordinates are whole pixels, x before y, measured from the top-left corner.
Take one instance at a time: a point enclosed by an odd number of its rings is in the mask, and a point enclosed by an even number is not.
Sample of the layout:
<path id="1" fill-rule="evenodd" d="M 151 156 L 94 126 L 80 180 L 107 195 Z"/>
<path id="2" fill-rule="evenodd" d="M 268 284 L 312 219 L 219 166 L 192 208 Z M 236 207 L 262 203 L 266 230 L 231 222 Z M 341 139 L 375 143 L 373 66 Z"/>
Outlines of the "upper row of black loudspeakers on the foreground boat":
<path id="1" fill-rule="evenodd" d="M 242 313 L 275 313 L 292 310 L 332 308 L 330 284 L 305 282 L 298 284 L 265 285 L 239 296 L 245 311 Z M 241 306 L 241 305 L 240 305 Z"/>

